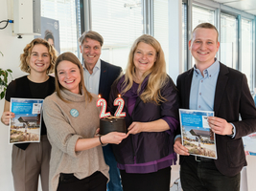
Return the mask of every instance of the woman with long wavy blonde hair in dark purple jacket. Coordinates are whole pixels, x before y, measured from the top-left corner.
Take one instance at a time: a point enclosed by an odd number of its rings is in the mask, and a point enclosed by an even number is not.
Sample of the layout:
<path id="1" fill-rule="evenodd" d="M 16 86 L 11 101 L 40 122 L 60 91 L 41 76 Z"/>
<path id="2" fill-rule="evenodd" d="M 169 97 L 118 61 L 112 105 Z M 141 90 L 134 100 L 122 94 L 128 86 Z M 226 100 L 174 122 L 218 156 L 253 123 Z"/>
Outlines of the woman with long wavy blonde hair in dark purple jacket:
<path id="1" fill-rule="evenodd" d="M 179 101 L 162 48 L 151 35 L 140 36 L 131 47 L 126 74 L 111 89 L 111 114 L 118 95 L 125 100 L 128 138 L 113 151 L 124 191 L 169 191 Z"/>

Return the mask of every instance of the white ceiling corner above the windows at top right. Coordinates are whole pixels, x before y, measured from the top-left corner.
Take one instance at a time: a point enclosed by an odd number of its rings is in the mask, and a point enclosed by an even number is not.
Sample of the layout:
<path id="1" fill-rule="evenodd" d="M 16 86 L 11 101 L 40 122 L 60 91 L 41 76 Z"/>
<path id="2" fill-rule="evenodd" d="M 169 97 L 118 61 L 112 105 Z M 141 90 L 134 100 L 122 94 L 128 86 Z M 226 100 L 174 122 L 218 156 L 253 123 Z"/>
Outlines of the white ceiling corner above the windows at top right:
<path id="1" fill-rule="evenodd" d="M 256 0 L 213 0 L 225 6 L 256 15 Z"/>

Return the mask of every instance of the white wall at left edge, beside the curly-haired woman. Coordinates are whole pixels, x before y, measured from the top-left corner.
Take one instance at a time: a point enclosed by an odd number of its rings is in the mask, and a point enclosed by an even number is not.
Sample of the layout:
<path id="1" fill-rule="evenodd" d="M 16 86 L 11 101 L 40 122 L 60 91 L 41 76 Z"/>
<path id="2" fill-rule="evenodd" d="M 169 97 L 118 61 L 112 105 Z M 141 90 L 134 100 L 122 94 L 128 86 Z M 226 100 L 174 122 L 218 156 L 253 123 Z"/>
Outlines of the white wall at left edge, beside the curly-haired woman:
<path id="1" fill-rule="evenodd" d="M 12 14 L 8 4 L 10 0 L 0 0 L 0 21 L 11 19 Z M 5 24 L 1 23 L 0 27 L 4 27 Z M 4 53 L 4 56 L 0 55 L 0 68 L 11 69 L 13 74 L 12 78 L 24 75 L 19 69 L 19 55 L 22 53 L 26 44 L 28 44 L 34 36 L 23 36 L 22 39 L 18 39 L 16 36 L 12 36 L 12 24 L 4 30 L 0 30 L 0 52 Z M 12 79 L 10 78 L 10 80 Z M 4 100 L 0 100 L 0 114 L 4 109 Z M 3 125 L 0 122 L 0 190 L 13 191 L 12 185 L 12 170 L 11 170 L 11 155 L 12 145 L 8 143 L 8 126 Z"/>

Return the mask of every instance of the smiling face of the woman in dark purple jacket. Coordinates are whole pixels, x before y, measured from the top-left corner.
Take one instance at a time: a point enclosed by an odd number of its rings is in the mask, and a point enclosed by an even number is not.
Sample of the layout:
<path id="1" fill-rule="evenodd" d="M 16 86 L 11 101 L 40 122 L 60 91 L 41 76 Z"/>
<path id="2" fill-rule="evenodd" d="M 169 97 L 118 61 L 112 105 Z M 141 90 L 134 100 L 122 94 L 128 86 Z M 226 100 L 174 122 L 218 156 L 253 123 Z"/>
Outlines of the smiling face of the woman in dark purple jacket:
<path id="1" fill-rule="evenodd" d="M 142 74 L 149 71 L 156 61 L 156 52 L 154 48 L 144 42 L 140 42 L 133 54 L 133 63 L 136 74 L 141 77 Z"/>

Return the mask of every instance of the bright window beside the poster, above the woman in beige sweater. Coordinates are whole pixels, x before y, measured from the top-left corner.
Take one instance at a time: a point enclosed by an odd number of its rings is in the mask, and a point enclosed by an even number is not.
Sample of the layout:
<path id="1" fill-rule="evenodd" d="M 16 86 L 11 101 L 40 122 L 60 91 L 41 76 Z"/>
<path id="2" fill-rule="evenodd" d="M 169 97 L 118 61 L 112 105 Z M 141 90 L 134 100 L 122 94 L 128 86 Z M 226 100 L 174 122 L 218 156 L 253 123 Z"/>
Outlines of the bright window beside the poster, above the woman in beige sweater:
<path id="1" fill-rule="evenodd" d="M 78 56 L 78 19 L 76 0 L 41 0 L 41 16 L 55 19 L 59 27 L 60 53 L 72 52 Z M 43 38 L 43 36 L 41 36 Z"/>

